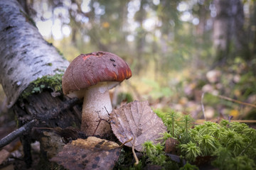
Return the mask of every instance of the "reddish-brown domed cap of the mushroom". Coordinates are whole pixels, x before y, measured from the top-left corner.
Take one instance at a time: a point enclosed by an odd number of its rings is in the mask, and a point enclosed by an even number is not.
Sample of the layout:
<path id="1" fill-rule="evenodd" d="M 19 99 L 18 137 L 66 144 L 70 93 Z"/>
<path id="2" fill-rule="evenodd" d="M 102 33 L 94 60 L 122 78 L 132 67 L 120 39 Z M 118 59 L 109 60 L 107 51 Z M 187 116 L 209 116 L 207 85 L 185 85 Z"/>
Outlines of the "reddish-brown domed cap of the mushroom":
<path id="1" fill-rule="evenodd" d="M 63 93 L 86 89 L 101 81 L 123 81 L 132 77 L 132 71 L 122 58 L 111 52 L 81 54 L 70 63 L 63 80 Z"/>

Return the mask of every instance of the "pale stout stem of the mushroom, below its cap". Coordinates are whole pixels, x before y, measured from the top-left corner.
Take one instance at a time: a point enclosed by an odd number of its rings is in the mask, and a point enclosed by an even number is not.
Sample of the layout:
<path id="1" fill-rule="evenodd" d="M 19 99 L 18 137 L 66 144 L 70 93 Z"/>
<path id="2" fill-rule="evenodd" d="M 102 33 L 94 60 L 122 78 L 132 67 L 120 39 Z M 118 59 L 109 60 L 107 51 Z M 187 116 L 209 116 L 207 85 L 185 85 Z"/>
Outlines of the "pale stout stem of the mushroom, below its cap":
<path id="1" fill-rule="evenodd" d="M 82 104 L 81 130 L 86 135 L 100 135 L 103 137 L 110 132 L 108 113 L 112 112 L 107 82 L 97 83 L 85 91 Z M 96 131 L 95 131 L 96 130 Z"/>

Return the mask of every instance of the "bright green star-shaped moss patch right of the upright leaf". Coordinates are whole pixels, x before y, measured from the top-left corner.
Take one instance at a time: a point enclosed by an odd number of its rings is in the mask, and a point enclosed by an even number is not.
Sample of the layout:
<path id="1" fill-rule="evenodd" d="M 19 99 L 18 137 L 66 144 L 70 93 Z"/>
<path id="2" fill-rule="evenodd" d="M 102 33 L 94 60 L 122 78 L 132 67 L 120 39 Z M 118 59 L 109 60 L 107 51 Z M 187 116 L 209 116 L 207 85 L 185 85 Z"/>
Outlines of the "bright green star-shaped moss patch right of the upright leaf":
<path id="1" fill-rule="evenodd" d="M 164 113 L 155 111 L 163 120 L 168 132 L 163 134 L 165 141 L 169 137 L 175 137 L 180 141 L 178 148 L 182 156 L 188 162 L 195 162 L 196 157 L 212 156 L 213 166 L 219 169 L 254 169 L 256 163 L 256 130 L 245 123 L 230 123 L 222 120 L 220 123 L 205 122 L 203 125 L 196 125 L 191 128 L 193 119 L 189 115 L 182 115 L 171 111 Z M 160 152 L 156 153 L 156 147 L 147 143 L 146 155 L 155 160 Z M 164 145 L 164 143 L 162 144 Z M 163 159 L 164 160 L 164 159 Z M 159 163 L 158 163 L 159 164 Z M 169 164 L 165 161 L 164 164 Z M 189 167 L 188 167 L 189 168 Z M 192 167 L 196 168 L 196 167 Z M 186 169 L 183 166 L 183 169 Z"/>

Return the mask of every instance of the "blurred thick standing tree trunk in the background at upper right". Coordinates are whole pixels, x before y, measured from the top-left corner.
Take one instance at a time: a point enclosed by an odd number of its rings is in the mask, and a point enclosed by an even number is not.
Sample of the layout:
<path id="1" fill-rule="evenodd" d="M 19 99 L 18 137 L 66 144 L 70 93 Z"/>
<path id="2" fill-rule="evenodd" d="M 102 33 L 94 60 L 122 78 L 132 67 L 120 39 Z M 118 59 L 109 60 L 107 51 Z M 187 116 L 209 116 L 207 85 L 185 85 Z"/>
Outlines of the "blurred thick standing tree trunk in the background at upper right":
<path id="1" fill-rule="evenodd" d="M 244 25 L 243 6 L 240 0 L 215 0 L 216 16 L 213 23 L 213 45 L 216 60 L 225 63 L 229 57 L 240 55 L 250 59 Z M 232 46 L 233 45 L 233 46 Z M 231 54 L 231 49 L 234 54 Z"/>

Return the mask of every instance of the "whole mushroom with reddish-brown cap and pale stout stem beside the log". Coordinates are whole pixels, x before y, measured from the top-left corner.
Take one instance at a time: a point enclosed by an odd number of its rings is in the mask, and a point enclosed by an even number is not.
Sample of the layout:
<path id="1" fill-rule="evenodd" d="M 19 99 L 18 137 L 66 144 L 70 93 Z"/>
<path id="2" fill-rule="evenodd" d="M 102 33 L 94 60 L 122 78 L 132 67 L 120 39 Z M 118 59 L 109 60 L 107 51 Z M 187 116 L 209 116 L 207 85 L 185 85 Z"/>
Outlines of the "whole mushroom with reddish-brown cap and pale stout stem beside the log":
<path id="1" fill-rule="evenodd" d="M 70 63 L 63 75 L 63 93 L 70 98 L 84 98 L 82 132 L 101 137 L 110 132 L 107 122 L 112 112 L 109 89 L 130 77 L 128 64 L 110 52 L 81 54 Z"/>

